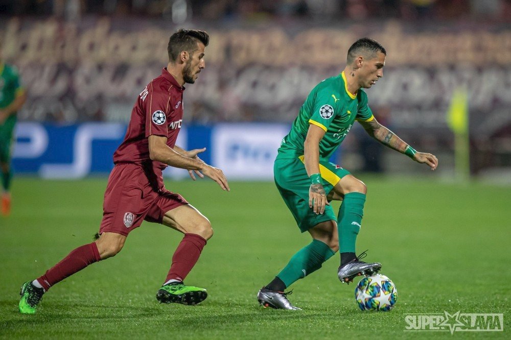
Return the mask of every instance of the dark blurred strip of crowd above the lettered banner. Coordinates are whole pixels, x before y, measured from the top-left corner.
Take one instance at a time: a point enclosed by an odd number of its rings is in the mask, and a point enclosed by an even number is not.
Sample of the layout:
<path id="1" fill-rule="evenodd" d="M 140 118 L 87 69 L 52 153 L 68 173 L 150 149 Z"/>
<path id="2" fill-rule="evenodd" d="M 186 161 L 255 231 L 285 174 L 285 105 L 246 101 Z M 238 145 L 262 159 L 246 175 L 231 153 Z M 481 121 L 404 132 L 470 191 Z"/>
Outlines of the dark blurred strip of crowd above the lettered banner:
<path id="1" fill-rule="evenodd" d="M 509 0 L 0 0 L 7 15 L 55 15 L 76 19 L 82 15 L 135 15 L 172 17 L 187 15 L 204 20 L 274 20 L 310 18 L 452 20 L 478 18 L 507 20 Z"/>

